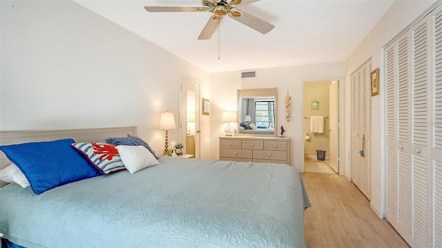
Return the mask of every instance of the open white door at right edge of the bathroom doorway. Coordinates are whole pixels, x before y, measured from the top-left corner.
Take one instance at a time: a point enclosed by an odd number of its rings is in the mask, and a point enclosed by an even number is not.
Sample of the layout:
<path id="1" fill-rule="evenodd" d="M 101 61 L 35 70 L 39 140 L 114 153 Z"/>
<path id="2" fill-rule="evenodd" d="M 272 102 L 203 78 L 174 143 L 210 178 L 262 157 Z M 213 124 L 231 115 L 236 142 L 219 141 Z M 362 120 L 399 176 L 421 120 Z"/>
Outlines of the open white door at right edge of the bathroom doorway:
<path id="1" fill-rule="evenodd" d="M 330 167 L 339 173 L 339 81 L 330 85 Z"/>

